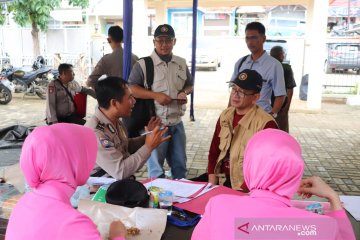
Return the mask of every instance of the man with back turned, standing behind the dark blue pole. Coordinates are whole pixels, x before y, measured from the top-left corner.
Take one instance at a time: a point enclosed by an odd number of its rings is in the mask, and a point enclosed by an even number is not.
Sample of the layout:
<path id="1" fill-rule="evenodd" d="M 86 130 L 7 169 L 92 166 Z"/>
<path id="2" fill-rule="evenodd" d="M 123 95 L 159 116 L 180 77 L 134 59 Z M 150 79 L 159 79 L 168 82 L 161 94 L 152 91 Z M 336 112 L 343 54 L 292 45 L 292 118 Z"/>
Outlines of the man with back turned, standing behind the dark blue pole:
<path id="1" fill-rule="evenodd" d="M 111 26 L 108 31 L 108 43 L 113 52 L 103 56 L 96 64 L 94 71 L 90 74 L 86 85 L 94 88 L 98 79 L 106 74 L 112 77 L 123 77 L 123 41 L 124 33 L 121 27 Z M 131 65 L 134 65 L 138 57 L 134 54 L 131 56 Z"/>

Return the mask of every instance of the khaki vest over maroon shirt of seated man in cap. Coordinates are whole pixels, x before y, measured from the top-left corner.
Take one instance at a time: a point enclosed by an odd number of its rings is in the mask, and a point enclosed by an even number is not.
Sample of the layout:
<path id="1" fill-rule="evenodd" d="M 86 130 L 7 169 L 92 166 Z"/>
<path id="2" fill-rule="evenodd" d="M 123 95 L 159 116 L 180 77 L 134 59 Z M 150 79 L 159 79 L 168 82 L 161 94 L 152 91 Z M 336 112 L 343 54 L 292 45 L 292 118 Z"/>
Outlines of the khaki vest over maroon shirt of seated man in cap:
<path id="1" fill-rule="evenodd" d="M 230 149 L 230 180 L 231 186 L 239 190 L 244 182 L 243 160 L 245 146 L 249 139 L 258 131 L 263 130 L 269 121 L 274 119 L 262 108 L 254 106 L 238 122 L 233 129 L 232 122 L 234 119 L 235 108 L 229 107 L 220 115 L 220 154 L 216 161 L 215 173 L 220 173 L 221 164 Z"/>

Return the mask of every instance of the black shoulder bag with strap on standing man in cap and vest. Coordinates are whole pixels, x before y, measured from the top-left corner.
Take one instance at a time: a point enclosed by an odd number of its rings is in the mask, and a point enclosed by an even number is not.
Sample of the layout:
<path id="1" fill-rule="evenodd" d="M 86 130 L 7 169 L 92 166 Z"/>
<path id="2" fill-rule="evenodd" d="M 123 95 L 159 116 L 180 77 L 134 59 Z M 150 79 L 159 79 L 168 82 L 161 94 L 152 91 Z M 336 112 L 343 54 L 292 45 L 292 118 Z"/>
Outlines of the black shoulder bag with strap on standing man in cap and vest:
<path id="1" fill-rule="evenodd" d="M 151 90 L 151 86 L 154 82 L 154 63 L 151 57 L 144 57 L 143 59 L 146 67 L 146 73 L 144 73 L 146 86 L 144 86 L 144 88 Z M 153 116 L 156 116 L 154 100 L 136 98 L 136 103 L 132 109 L 131 116 L 123 118 L 122 120 L 128 130 L 128 136 L 130 138 L 140 136 L 139 132 L 144 129 L 150 118 Z"/>

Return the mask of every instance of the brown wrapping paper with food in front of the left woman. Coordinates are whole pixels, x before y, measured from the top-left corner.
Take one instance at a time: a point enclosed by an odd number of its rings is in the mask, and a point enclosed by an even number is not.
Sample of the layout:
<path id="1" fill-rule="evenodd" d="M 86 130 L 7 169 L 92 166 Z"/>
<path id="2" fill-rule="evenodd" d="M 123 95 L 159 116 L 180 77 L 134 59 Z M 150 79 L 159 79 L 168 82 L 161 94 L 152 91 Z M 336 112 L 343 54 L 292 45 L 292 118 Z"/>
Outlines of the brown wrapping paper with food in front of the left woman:
<path id="1" fill-rule="evenodd" d="M 114 220 L 120 220 L 126 228 L 140 230 L 139 235 L 126 236 L 129 240 L 160 240 L 165 231 L 167 210 L 163 209 L 127 208 L 81 199 L 78 210 L 96 224 L 102 239 L 108 239 L 109 226 Z"/>

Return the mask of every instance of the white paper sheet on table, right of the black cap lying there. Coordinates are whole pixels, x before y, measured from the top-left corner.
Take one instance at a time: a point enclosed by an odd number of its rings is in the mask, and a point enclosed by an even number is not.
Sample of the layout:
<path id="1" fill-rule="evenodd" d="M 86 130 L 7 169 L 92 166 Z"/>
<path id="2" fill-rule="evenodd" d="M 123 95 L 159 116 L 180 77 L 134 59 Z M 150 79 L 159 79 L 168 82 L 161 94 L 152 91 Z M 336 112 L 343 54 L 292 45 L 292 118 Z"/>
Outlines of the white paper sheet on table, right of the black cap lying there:
<path id="1" fill-rule="evenodd" d="M 205 185 L 205 183 L 183 182 L 164 178 L 158 178 L 154 181 L 144 184 L 147 189 L 151 186 L 156 186 L 172 191 L 174 195 L 178 197 L 190 197 L 191 195 L 203 189 Z"/>

